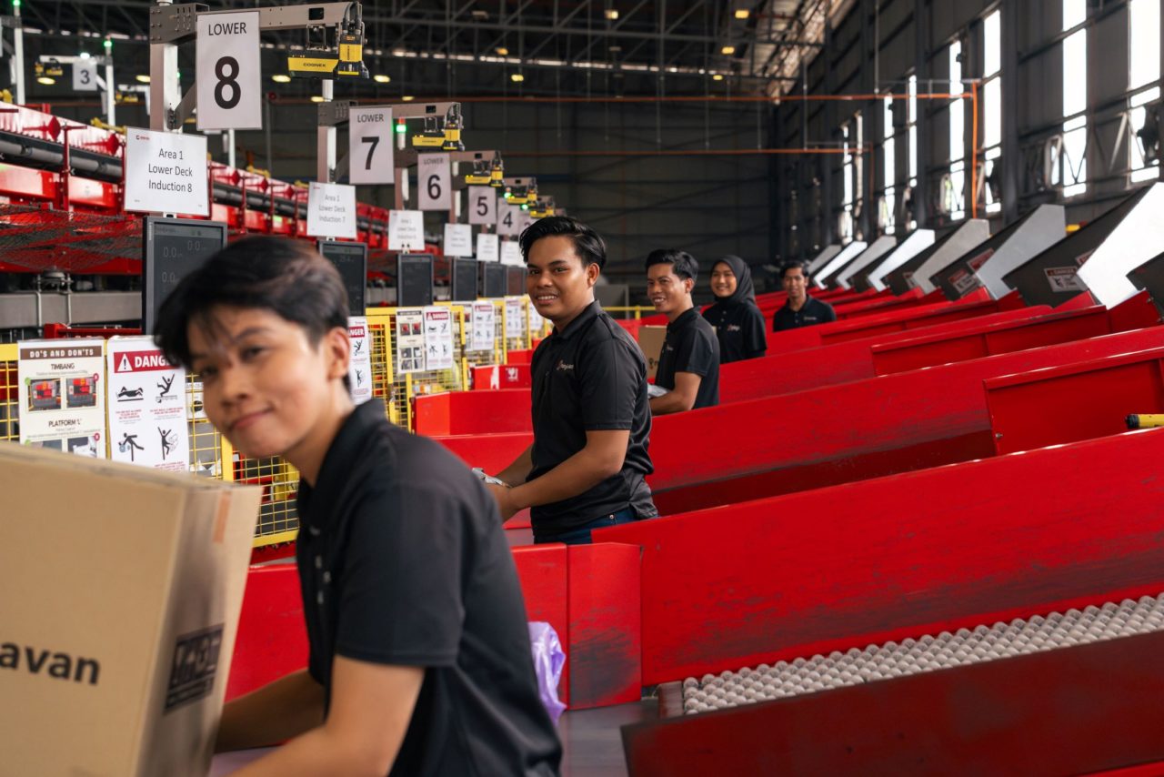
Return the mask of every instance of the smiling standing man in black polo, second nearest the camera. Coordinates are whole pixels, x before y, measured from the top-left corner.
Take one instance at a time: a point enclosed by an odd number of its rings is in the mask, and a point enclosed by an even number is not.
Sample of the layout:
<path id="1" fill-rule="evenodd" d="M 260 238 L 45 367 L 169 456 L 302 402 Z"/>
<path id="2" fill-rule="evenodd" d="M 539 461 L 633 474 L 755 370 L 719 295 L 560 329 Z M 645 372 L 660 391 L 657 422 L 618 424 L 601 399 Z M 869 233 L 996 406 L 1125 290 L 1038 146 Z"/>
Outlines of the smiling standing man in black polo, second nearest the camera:
<path id="1" fill-rule="evenodd" d="M 646 360 L 595 302 L 606 246 L 569 217 L 521 233 L 526 290 L 553 333 L 533 354 L 533 445 L 490 486 L 502 517 L 531 508 L 535 543 L 585 544 L 594 529 L 659 515 L 646 475 Z"/>

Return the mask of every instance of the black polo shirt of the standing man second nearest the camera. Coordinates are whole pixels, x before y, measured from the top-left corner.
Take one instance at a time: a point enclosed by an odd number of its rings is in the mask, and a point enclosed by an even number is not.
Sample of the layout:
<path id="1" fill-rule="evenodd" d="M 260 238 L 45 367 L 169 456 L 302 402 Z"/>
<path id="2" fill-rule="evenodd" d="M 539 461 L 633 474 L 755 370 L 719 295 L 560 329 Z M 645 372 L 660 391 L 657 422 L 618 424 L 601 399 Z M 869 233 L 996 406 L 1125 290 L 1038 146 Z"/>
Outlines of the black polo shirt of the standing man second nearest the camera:
<path id="1" fill-rule="evenodd" d="M 577 496 L 530 510 L 534 535 L 559 534 L 627 507 L 639 518 L 659 515 L 646 482 L 654 472 L 647 453 L 647 365 L 626 330 L 591 303 L 563 331 L 555 329 L 541 341 L 530 372 L 533 469 L 527 480 L 585 447 L 588 431 L 631 432 L 622 471 Z"/>

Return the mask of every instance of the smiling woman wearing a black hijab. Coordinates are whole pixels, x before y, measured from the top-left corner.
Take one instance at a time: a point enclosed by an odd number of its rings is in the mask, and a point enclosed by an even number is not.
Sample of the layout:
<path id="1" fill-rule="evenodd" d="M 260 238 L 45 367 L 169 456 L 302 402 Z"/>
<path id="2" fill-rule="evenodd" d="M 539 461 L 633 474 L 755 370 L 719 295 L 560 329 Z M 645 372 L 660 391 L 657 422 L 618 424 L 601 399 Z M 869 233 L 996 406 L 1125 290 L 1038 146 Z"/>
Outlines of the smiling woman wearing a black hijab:
<path id="1" fill-rule="evenodd" d="M 752 270 L 739 256 L 724 256 L 711 268 L 716 303 L 703 318 L 716 327 L 719 363 L 762 356 L 768 348 L 764 315 L 755 304 Z"/>

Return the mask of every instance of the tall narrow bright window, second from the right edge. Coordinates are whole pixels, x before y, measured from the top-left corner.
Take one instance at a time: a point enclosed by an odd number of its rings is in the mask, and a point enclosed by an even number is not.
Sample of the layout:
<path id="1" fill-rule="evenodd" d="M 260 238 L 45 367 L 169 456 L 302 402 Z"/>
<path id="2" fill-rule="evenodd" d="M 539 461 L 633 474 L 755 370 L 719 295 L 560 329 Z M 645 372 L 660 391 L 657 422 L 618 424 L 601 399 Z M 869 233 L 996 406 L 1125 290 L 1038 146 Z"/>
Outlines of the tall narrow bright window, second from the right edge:
<path id="1" fill-rule="evenodd" d="M 1063 0 L 1064 31 L 1087 21 L 1086 0 Z M 1158 28 L 1157 28 L 1158 30 Z M 1063 41 L 1063 147 L 1056 182 L 1064 197 L 1087 191 L 1087 29 Z"/>

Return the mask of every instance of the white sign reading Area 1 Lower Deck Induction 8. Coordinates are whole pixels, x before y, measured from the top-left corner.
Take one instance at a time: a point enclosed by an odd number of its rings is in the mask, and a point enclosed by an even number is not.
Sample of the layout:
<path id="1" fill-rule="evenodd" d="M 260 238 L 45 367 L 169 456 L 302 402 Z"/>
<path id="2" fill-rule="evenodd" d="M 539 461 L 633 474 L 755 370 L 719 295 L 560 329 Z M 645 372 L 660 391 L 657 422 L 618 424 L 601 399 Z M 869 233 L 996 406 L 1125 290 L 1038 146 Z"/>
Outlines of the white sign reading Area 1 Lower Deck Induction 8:
<path id="1" fill-rule="evenodd" d="M 125 210 L 210 216 L 206 137 L 127 129 Z"/>

